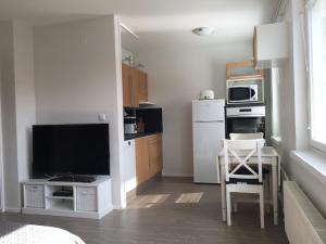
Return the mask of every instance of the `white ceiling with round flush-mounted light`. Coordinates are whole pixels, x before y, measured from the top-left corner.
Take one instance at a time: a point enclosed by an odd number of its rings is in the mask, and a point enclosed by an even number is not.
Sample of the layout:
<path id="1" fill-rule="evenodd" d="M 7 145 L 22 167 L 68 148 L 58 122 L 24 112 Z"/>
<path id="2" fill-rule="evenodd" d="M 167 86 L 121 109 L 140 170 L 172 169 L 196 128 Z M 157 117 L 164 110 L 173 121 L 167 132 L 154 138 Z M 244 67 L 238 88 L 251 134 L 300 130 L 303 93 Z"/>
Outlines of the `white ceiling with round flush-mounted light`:
<path id="1" fill-rule="evenodd" d="M 253 26 L 269 23 L 279 0 L 0 0 L 0 18 L 35 25 L 115 13 L 140 37 L 123 35 L 130 51 L 167 46 L 202 46 L 250 40 Z M 191 29 L 214 26 L 198 37 Z"/>

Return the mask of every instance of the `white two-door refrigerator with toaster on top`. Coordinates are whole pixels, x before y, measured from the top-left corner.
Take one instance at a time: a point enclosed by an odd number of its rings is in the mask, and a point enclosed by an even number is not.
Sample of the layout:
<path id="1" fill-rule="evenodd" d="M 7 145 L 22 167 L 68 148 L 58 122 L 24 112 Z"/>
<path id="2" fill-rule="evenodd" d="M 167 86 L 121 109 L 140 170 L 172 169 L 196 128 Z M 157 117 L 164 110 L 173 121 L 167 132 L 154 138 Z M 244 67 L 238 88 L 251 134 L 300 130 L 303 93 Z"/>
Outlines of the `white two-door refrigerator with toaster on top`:
<path id="1" fill-rule="evenodd" d="M 192 101 L 193 182 L 220 183 L 216 156 L 225 138 L 225 101 Z"/>

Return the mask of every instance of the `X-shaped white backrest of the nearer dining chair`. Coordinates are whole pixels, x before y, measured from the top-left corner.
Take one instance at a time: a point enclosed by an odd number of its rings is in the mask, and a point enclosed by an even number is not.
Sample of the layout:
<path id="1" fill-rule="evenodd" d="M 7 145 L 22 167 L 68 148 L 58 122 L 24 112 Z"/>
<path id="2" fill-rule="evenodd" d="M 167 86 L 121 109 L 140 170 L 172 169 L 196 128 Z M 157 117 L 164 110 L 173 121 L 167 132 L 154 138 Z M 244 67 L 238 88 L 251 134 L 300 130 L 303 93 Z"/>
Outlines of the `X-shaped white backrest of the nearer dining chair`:
<path id="1" fill-rule="evenodd" d="M 236 179 L 259 179 L 263 182 L 262 174 L 262 146 L 264 145 L 263 139 L 255 140 L 224 140 L 224 162 L 225 162 L 225 178 Z M 256 157 L 256 164 L 248 164 L 252 157 Z M 233 159 L 233 160 L 230 160 Z M 235 167 L 230 167 L 230 165 Z M 258 171 L 251 166 L 258 165 Z M 248 175 L 237 174 L 239 169 L 246 168 Z"/>

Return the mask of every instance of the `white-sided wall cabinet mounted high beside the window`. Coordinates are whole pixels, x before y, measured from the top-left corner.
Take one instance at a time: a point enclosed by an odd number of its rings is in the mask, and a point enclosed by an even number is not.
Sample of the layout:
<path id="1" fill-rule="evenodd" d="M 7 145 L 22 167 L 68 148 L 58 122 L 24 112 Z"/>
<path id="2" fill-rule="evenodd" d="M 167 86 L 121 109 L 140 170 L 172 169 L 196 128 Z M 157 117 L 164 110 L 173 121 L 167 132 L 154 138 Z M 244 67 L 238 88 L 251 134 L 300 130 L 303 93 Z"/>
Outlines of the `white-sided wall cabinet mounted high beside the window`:
<path id="1" fill-rule="evenodd" d="M 254 27 L 253 60 L 256 69 L 279 66 L 288 57 L 288 52 L 287 23 Z"/>

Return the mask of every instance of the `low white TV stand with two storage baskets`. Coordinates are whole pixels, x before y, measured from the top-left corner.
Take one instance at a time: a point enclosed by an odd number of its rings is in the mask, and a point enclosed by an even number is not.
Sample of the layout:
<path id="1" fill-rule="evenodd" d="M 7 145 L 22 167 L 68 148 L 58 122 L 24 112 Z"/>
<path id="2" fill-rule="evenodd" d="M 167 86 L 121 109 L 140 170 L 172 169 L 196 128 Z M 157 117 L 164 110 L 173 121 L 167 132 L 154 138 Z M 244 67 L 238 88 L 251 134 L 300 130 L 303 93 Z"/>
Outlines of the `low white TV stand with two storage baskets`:
<path id="1" fill-rule="evenodd" d="M 22 184 L 23 214 L 100 219 L 113 209 L 110 177 L 97 177 L 91 183 L 32 179 Z M 73 195 L 52 195 L 62 189 L 72 190 Z"/>

